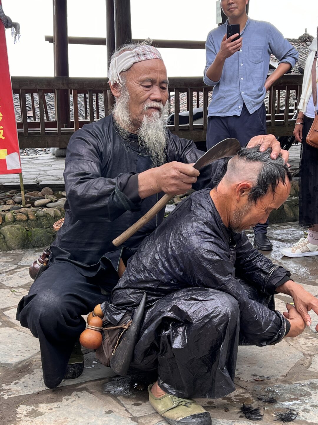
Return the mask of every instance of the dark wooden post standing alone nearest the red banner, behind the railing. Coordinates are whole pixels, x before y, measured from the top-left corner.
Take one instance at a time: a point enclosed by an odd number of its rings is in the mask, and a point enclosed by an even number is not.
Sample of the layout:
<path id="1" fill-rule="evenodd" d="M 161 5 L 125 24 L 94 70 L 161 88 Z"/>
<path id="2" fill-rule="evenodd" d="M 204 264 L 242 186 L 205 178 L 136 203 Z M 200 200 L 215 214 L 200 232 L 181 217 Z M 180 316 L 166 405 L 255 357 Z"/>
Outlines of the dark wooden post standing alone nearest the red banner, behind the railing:
<path id="1" fill-rule="evenodd" d="M 67 0 L 54 0 L 54 36 L 55 36 L 55 77 L 69 77 L 68 37 L 67 37 Z M 69 90 L 58 91 L 60 97 L 60 121 L 62 127 L 70 127 Z"/>

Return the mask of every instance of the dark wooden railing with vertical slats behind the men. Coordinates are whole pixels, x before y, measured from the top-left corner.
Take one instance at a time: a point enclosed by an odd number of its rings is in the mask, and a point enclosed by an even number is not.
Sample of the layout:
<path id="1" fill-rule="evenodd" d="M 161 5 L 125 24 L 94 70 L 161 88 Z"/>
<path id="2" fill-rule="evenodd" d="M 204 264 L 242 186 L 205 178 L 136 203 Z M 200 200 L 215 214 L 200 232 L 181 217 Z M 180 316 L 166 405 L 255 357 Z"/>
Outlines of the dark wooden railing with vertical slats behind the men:
<path id="1" fill-rule="evenodd" d="M 292 134 L 295 125 L 292 118 L 301 95 L 301 83 L 301 75 L 285 75 L 271 88 L 267 101 L 268 133 L 277 137 Z M 109 115 L 106 78 L 12 77 L 12 88 L 15 106 L 21 116 L 21 121 L 17 121 L 21 148 L 66 147 L 70 136 L 78 128 Z M 70 91 L 71 121 L 67 125 L 60 119 L 61 90 Z M 212 87 L 204 85 L 201 77 L 170 78 L 168 110 L 175 114 L 174 125 L 168 126 L 170 130 L 180 137 L 204 142 L 211 92 Z M 51 108 L 53 116 L 48 110 L 49 97 L 51 103 L 54 102 Z M 204 114 L 202 122 L 196 123 L 193 122 L 193 109 L 199 106 Z M 82 113 L 79 113 L 79 108 Z M 187 124 L 180 124 L 180 111 L 189 111 Z"/>

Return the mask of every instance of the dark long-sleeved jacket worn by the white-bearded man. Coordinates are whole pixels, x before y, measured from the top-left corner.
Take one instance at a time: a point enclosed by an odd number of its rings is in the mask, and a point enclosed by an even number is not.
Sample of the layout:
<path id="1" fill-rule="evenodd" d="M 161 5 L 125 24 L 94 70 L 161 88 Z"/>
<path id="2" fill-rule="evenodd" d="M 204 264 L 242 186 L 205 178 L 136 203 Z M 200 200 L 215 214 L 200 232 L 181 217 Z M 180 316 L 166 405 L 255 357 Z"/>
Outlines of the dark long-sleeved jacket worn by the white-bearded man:
<path id="1" fill-rule="evenodd" d="M 170 131 L 167 137 L 167 162 L 192 163 L 204 153 L 192 141 L 180 139 Z M 208 187 L 222 163 L 216 161 L 205 167 L 193 188 Z M 151 167 L 151 156 L 140 150 L 137 137 L 131 134 L 129 140 L 124 140 L 112 116 L 74 133 L 65 159 L 65 221 L 51 246 L 51 263 L 72 263 L 86 276 L 95 275 L 100 268 L 107 269 L 111 290 L 118 280 L 120 256 L 126 261 L 133 255 L 165 213 L 163 208 L 123 246 L 112 244 L 164 195 L 162 192 L 145 199 L 138 196 L 137 174 Z"/>

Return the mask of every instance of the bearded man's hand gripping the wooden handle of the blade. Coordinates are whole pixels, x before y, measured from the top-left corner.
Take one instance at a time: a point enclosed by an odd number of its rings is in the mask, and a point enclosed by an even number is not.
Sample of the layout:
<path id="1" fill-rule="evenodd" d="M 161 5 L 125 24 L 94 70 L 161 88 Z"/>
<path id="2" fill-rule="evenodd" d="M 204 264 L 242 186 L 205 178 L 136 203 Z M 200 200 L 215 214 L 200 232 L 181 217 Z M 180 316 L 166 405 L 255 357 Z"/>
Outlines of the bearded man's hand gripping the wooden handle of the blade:
<path id="1" fill-rule="evenodd" d="M 197 181 L 200 174 L 198 170 L 193 168 L 193 165 L 172 161 L 156 168 L 158 192 L 163 191 L 171 195 L 178 195 L 191 189 L 192 184 Z"/>

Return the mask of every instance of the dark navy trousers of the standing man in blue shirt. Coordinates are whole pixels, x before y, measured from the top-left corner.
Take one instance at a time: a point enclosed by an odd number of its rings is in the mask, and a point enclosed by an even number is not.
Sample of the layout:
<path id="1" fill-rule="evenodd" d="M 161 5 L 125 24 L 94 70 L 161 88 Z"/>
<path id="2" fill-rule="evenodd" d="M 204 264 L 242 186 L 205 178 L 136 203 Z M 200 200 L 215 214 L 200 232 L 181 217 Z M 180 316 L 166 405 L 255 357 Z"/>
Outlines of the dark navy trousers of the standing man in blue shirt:
<path id="1" fill-rule="evenodd" d="M 252 137 L 266 134 L 266 109 L 265 104 L 254 113 L 249 113 L 245 104 L 240 116 L 209 116 L 206 131 L 206 147 L 214 146 L 228 137 L 237 139 L 241 146 L 245 146 Z M 254 235 L 267 233 L 268 220 L 264 224 L 254 227 Z"/>

